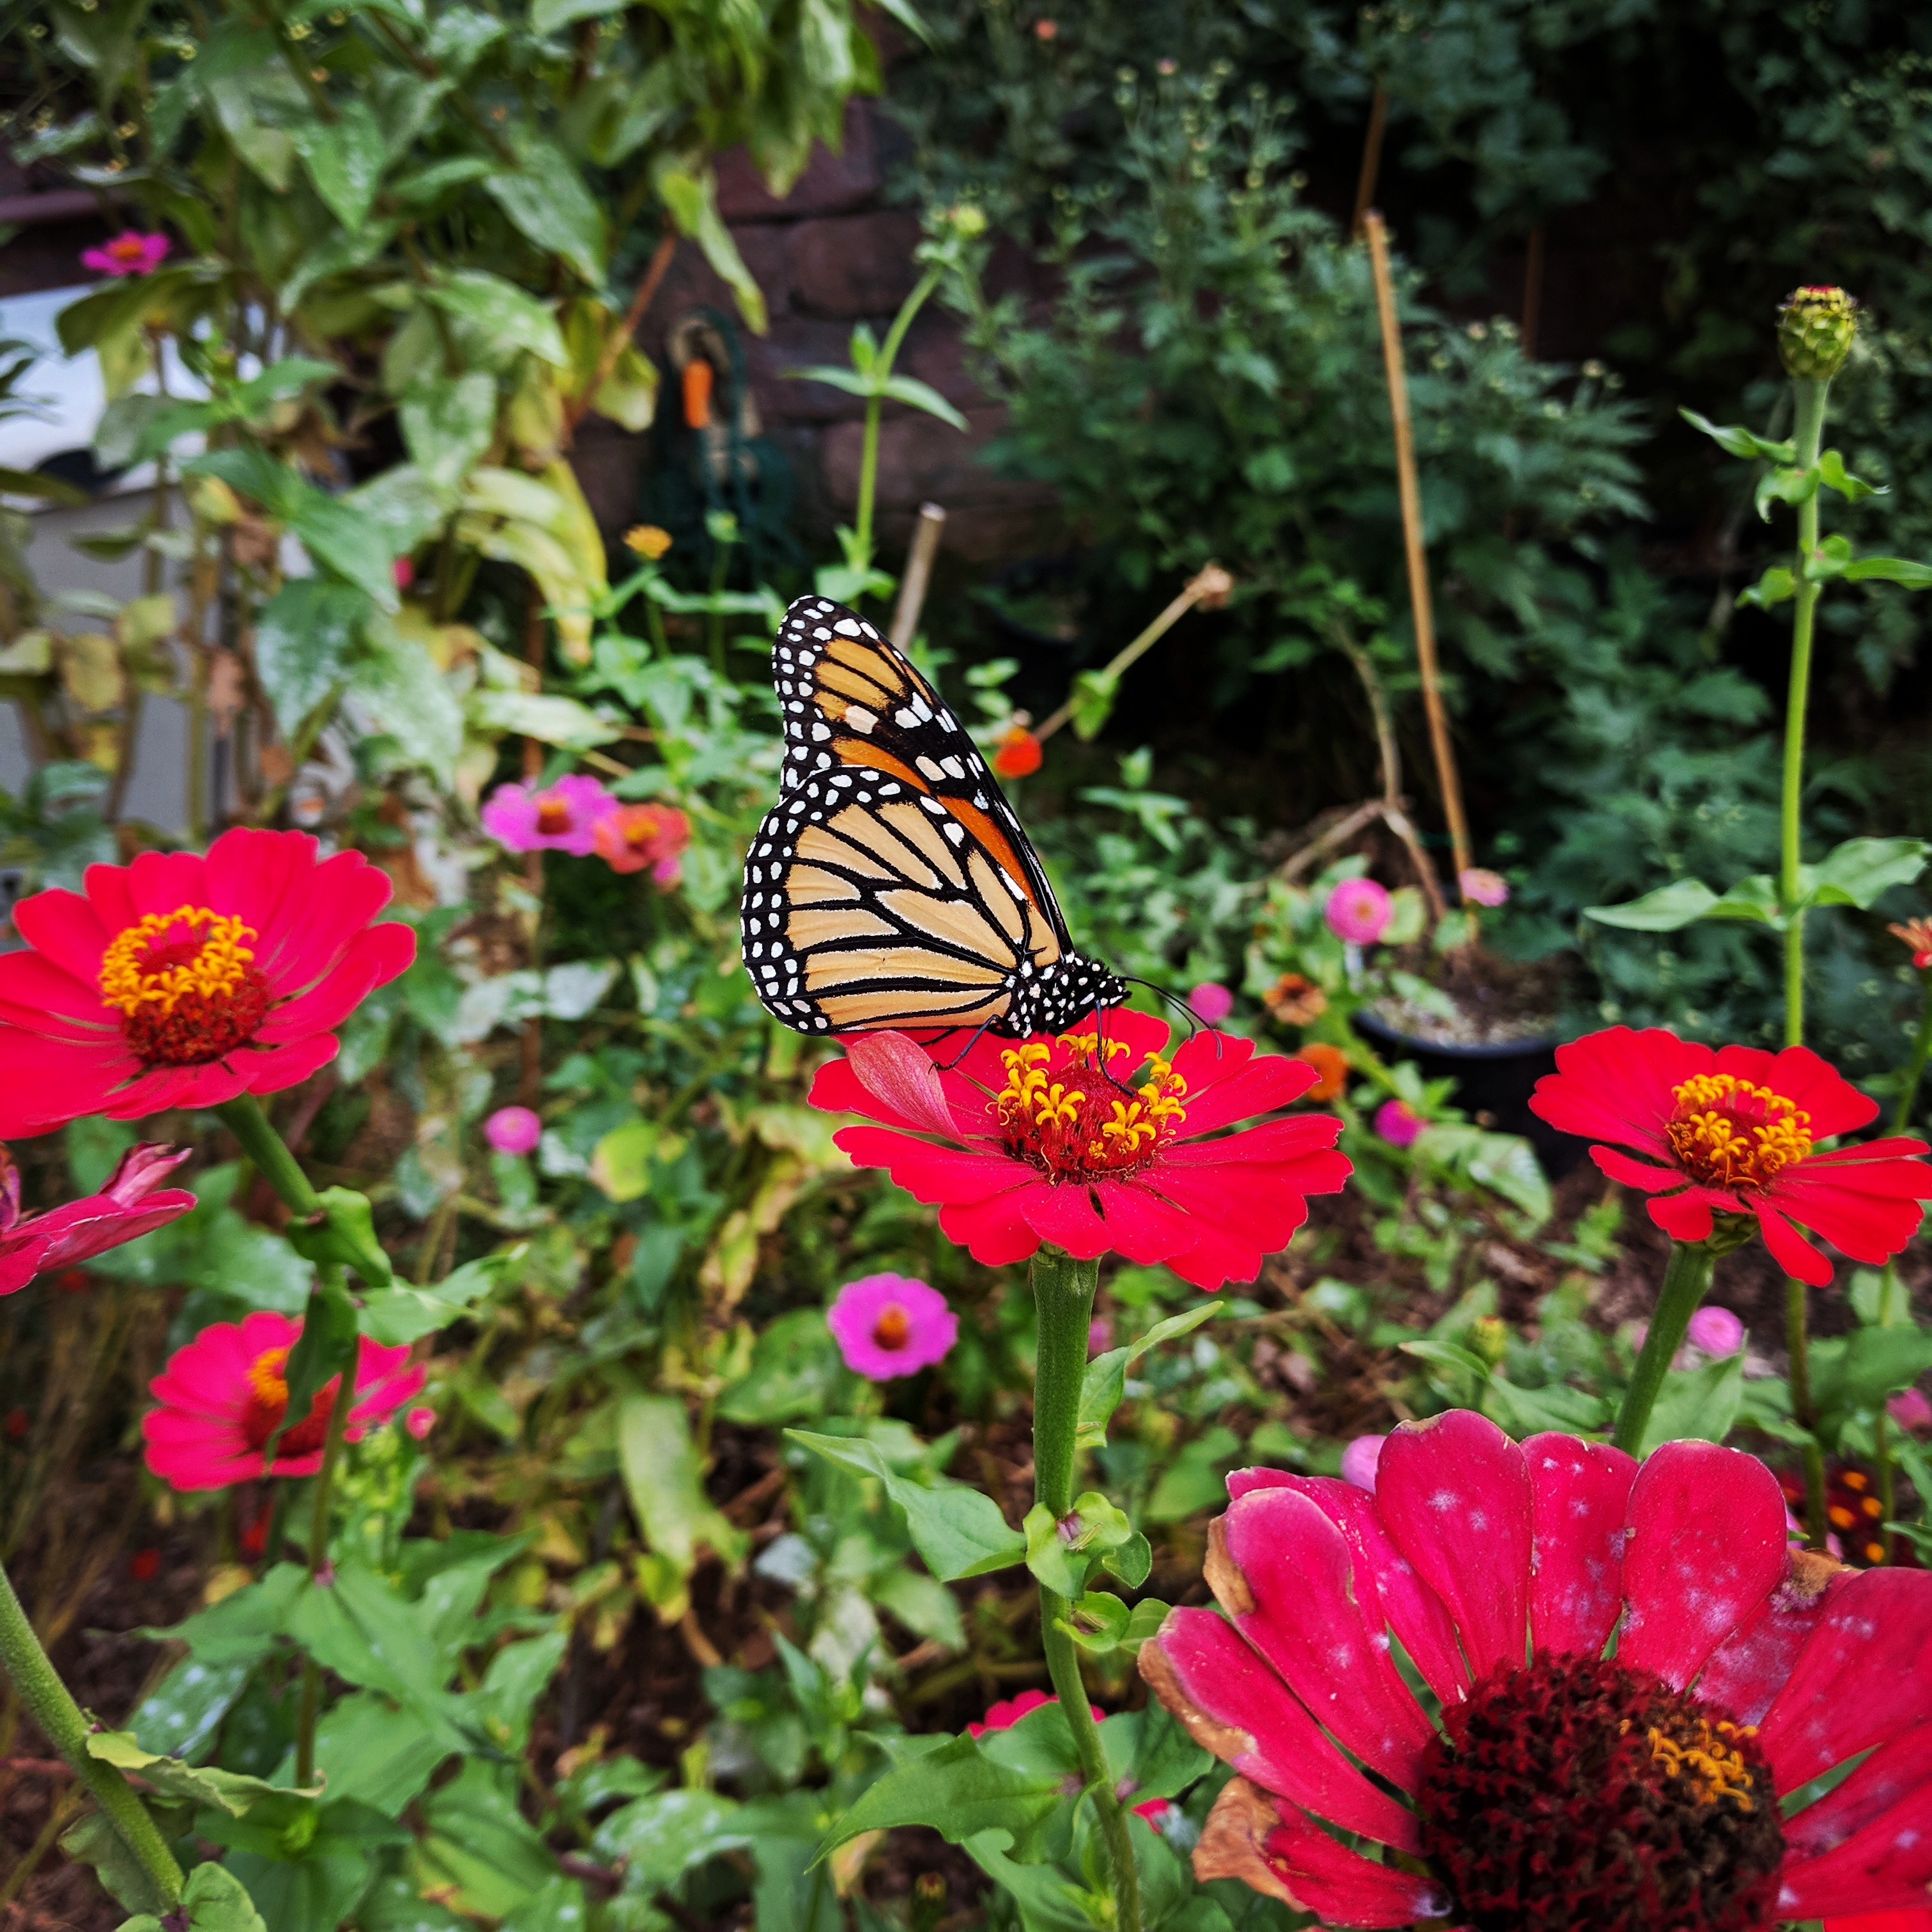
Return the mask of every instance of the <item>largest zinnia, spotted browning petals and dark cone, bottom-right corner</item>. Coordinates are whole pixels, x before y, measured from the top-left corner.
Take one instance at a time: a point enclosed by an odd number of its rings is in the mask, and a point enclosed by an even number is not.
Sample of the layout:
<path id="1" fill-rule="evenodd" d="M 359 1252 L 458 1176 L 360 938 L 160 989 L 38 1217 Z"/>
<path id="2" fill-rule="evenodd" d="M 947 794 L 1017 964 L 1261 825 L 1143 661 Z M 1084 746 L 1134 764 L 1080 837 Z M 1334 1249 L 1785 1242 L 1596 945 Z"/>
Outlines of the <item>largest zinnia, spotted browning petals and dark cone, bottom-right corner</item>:
<path id="1" fill-rule="evenodd" d="M 1752 1457 L 1679 1441 L 1638 1468 L 1451 1410 L 1389 1435 L 1374 1495 L 1283 1470 L 1229 1495 L 1206 1565 L 1227 1615 L 1175 1609 L 1140 1652 L 1238 1774 L 1198 1878 L 1327 1926 L 1488 1932 L 1924 1903 L 1932 1573 L 1789 1549 Z"/>

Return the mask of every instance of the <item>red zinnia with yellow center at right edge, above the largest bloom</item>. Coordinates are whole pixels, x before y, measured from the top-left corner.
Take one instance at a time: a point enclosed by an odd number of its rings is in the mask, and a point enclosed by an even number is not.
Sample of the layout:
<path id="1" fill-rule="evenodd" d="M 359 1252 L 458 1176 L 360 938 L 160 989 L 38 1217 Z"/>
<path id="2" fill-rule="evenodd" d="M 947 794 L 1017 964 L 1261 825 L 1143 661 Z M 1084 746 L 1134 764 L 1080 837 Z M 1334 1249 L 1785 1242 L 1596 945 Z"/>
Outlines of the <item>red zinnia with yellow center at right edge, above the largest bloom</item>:
<path id="1" fill-rule="evenodd" d="M 1824 1287 L 1832 1264 L 1791 1225 L 1855 1262 L 1886 1262 L 1913 1238 L 1932 1200 L 1922 1140 L 1864 1140 L 1820 1153 L 1818 1142 L 1878 1113 L 1810 1047 L 1700 1047 L 1662 1026 L 1611 1026 L 1557 1047 L 1557 1070 L 1530 1107 L 1565 1134 L 1615 1140 L 1590 1159 L 1656 1196 L 1650 1219 L 1673 1240 L 1706 1240 L 1712 1213 L 1758 1217 L 1787 1275 Z M 1662 1161 L 1665 1165 L 1652 1165 Z"/>

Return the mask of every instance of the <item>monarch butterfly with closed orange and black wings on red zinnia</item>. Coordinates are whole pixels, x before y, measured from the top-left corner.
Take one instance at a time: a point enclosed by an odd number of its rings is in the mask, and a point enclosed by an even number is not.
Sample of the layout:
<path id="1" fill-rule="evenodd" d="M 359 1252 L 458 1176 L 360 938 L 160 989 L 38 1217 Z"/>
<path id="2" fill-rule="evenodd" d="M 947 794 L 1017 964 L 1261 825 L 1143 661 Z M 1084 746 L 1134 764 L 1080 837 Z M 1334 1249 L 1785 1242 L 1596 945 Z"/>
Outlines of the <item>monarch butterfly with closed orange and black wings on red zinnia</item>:
<path id="1" fill-rule="evenodd" d="M 939 694 L 866 618 L 798 597 L 773 645 L 779 802 L 744 962 L 800 1034 L 1063 1032 L 1126 985 L 1076 952 L 1039 858 Z"/>

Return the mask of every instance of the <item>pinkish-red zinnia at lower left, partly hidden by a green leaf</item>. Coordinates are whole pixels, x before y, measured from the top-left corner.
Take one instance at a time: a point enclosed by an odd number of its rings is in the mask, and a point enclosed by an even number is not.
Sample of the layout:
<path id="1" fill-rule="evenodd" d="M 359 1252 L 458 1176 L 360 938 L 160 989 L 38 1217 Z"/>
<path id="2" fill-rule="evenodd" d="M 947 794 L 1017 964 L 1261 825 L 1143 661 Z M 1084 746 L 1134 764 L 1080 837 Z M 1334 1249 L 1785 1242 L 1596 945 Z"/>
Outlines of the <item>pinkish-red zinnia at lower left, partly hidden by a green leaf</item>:
<path id="1" fill-rule="evenodd" d="M 296 1422 L 274 1451 L 274 1464 L 261 1466 L 261 1451 L 288 1414 L 288 1350 L 301 1323 L 292 1316 L 259 1312 L 243 1321 L 214 1321 L 149 1383 L 158 1408 L 141 1418 L 147 1466 L 176 1490 L 222 1490 L 255 1476 L 313 1476 L 323 1466 L 323 1437 L 334 1408 L 336 1381 L 317 1391 L 309 1412 Z M 408 1343 L 379 1349 L 359 1341 L 350 1434 L 386 1422 L 423 1385 L 423 1370 L 410 1366 Z"/>

